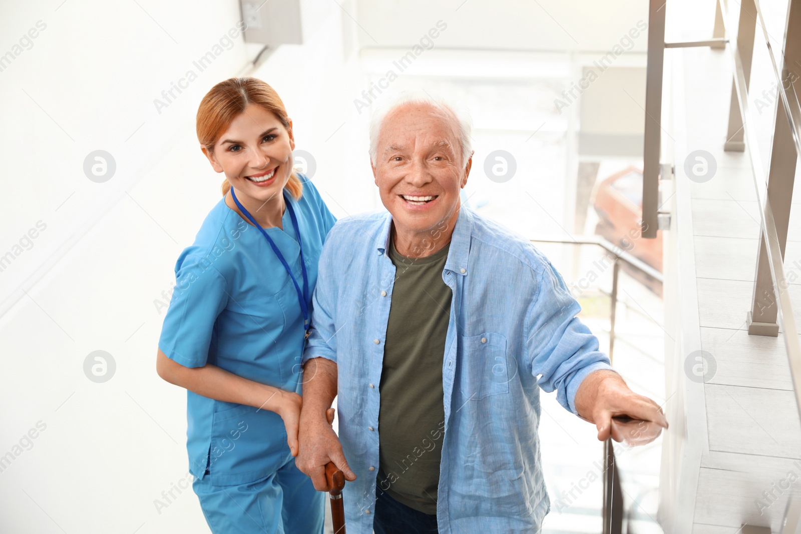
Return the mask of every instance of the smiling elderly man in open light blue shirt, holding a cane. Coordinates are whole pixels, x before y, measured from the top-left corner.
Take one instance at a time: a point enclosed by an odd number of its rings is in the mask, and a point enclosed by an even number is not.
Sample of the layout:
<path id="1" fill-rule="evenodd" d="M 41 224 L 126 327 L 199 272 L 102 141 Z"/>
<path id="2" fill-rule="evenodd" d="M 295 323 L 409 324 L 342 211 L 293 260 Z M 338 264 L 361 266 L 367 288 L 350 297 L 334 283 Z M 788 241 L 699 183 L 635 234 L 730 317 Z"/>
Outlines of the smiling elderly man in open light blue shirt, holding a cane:
<path id="1" fill-rule="evenodd" d="M 538 532 L 540 389 L 599 440 L 613 416 L 667 426 L 611 370 L 549 260 L 461 206 L 472 155 L 469 118 L 445 102 L 376 114 L 388 212 L 340 219 L 320 257 L 296 464 L 318 490 L 329 461 L 345 473 L 348 534 Z"/>

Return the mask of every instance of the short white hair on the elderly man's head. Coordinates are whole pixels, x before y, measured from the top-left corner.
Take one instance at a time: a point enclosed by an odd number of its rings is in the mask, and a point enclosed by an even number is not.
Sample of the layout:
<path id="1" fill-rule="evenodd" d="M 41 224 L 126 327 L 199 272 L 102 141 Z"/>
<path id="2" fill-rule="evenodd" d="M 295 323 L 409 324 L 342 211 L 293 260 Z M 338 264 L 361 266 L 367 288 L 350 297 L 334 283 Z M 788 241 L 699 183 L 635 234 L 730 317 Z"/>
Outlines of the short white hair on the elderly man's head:
<path id="1" fill-rule="evenodd" d="M 395 97 L 388 98 L 386 103 L 372 114 L 372 118 L 370 118 L 370 162 L 373 166 L 376 165 L 378 160 L 378 137 L 384 118 L 390 112 L 407 104 L 429 104 L 445 110 L 446 114 L 453 116 L 458 125 L 461 167 L 464 168 L 470 156 L 473 155 L 473 143 L 471 143 L 470 138 L 470 133 L 473 131 L 473 119 L 464 107 L 456 106 L 441 96 L 431 96 L 425 90 L 405 90 L 400 94 L 396 94 Z"/>

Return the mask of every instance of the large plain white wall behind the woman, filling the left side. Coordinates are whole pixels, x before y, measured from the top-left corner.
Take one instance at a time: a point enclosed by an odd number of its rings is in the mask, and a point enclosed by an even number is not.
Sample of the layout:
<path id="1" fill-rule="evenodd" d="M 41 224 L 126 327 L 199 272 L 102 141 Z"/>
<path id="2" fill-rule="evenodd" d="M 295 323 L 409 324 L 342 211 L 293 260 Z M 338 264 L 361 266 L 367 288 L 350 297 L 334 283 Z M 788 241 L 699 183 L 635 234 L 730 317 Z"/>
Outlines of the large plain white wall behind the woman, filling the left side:
<path id="1" fill-rule="evenodd" d="M 0 72 L 0 253 L 46 223 L 0 272 L 0 458 L 11 454 L 0 464 L 0 532 L 208 532 L 191 489 L 155 506 L 172 484 L 186 483 L 188 464 L 186 392 L 155 374 L 164 316 L 157 303 L 175 283 L 175 259 L 219 200 L 221 179 L 195 137 L 199 100 L 244 72 L 260 47 L 239 38 L 159 114 L 153 99 L 235 26 L 239 6 L 137 2 L 143 9 L 83 0 L 58 10 L 58 2 L 0 8 L 5 36 L 46 22 L 34 46 Z M 298 148 L 316 157 L 320 189 L 347 191 L 342 183 L 356 175 L 343 147 L 359 125 L 351 120 L 335 134 L 350 117 L 331 110 L 359 80 L 341 44 L 353 41 L 343 34 L 344 14 L 333 7 L 321 6 L 306 44 L 281 47 L 254 75 L 284 99 Z M 117 163 L 106 183 L 83 174 L 83 159 L 98 148 Z M 336 200 L 356 205 L 346 194 Z M 41 276 L 29 279 L 39 266 Z M 16 299 L 21 283 L 26 292 Z M 106 383 L 84 375 L 96 350 L 116 363 Z M 45 429 L 24 438 L 39 421 Z"/>

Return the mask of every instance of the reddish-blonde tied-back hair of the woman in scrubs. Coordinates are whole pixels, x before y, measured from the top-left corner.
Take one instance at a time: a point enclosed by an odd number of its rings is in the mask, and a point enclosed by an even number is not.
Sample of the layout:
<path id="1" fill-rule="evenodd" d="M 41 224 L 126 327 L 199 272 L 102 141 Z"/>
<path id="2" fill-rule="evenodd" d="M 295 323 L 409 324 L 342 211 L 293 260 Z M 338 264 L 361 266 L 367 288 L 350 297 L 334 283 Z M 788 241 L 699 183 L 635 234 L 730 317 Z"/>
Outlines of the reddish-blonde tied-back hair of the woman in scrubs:
<path id="1" fill-rule="evenodd" d="M 200 144 L 213 153 L 219 137 L 225 133 L 234 118 L 251 103 L 274 114 L 284 128 L 292 130 L 284 102 L 275 89 L 259 78 L 228 78 L 211 87 L 200 101 L 195 124 Z M 296 200 L 303 195 L 303 183 L 300 182 L 294 169 L 284 188 Z M 225 195 L 230 189 L 231 183 L 223 179 L 220 191 Z"/>

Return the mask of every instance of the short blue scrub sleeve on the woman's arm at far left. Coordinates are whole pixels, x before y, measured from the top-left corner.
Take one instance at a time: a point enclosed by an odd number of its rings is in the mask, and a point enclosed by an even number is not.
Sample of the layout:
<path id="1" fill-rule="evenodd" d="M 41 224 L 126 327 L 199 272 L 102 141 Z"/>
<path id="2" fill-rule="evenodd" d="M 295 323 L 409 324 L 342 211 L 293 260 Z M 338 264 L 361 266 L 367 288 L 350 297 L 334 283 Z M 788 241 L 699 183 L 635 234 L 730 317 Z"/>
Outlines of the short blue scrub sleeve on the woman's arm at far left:
<path id="1" fill-rule="evenodd" d="M 182 254 L 175 264 L 175 289 L 164 318 L 159 348 L 184 367 L 203 367 L 217 316 L 228 302 L 223 275 L 207 258 Z"/>

